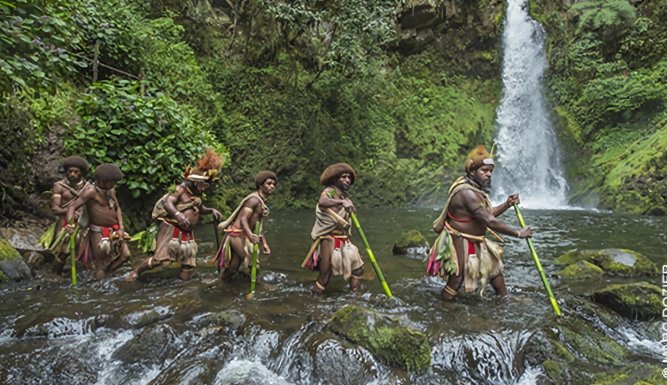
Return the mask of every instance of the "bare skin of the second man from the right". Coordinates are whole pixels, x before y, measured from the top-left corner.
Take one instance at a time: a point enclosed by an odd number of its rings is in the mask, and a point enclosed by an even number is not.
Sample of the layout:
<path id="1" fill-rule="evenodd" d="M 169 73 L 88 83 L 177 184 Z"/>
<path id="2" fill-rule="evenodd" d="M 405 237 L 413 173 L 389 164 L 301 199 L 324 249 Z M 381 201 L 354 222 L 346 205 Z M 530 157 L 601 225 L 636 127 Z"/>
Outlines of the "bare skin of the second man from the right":
<path id="1" fill-rule="evenodd" d="M 332 209 L 333 211 L 340 211 L 344 208 L 348 212 L 357 211 L 354 207 L 354 203 L 347 196 L 347 190 L 352 185 L 352 176 L 349 173 L 343 173 L 336 178 L 332 187 L 327 187 L 320 194 L 320 199 L 317 204 L 320 206 L 320 209 Z M 333 190 L 333 197 L 329 196 L 329 192 Z M 341 234 L 343 235 L 343 234 Z M 329 284 L 331 279 L 332 268 L 331 268 L 331 254 L 333 252 L 333 240 L 331 239 L 322 239 L 321 241 L 321 253 L 319 259 L 319 271 L 320 276 L 317 278 L 317 282 L 322 286 L 326 287 Z M 352 271 L 352 277 L 350 277 L 350 289 L 357 290 L 361 286 L 361 280 L 355 278 L 354 276 L 361 277 L 364 273 L 363 268 L 358 268 Z M 316 293 L 322 293 L 324 290 L 320 288 L 317 283 L 313 285 L 313 291 Z"/>

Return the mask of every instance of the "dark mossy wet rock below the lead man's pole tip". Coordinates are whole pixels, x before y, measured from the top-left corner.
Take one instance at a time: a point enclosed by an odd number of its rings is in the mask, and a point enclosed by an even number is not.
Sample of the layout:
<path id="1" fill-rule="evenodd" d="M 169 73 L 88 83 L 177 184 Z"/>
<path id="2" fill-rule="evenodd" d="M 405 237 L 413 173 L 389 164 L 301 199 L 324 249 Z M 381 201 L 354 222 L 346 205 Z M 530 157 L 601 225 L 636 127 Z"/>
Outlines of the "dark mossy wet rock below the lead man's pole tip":
<path id="1" fill-rule="evenodd" d="M 523 351 L 529 366 L 542 366 L 553 384 L 589 383 L 585 373 L 622 365 L 630 353 L 593 325 L 564 318 L 531 336 Z"/>

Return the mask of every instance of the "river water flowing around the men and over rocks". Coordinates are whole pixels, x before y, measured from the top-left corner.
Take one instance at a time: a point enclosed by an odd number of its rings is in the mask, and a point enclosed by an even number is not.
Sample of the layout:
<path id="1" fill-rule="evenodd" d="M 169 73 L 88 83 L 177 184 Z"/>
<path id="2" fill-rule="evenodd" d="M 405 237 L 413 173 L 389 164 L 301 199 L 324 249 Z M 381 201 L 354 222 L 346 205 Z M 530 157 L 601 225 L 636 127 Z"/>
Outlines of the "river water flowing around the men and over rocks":
<path id="1" fill-rule="evenodd" d="M 0 383 L 7 384 L 534 384 L 544 377 L 528 364 L 526 349 L 537 330 L 558 322 L 525 243 L 509 240 L 504 254 L 510 295 L 484 298 L 460 294 L 438 299 L 444 282 L 424 276 L 419 259 L 391 254 L 393 241 L 408 229 L 430 240 L 432 209 L 362 210 L 359 218 L 389 281 L 387 299 L 365 267 L 362 289 L 350 293 L 334 277 L 324 296 L 311 294 L 316 274 L 301 269 L 309 247 L 311 210 L 271 214 L 255 299 L 245 299 L 248 278 L 223 284 L 206 264 L 215 249 L 211 225 L 198 229 L 201 265 L 181 282 L 165 269 L 145 282 L 121 276 L 98 283 L 80 274 L 72 289 L 67 277 L 45 272 L 28 283 L 2 288 Z M 657 322 L 626 320 L 585 294 L 594 283 L 560 281 L 551 261 L 574 248 L 626 247 L 666 263 L 667 218 L 586 211 L 525 210 L 535 245 L 564 319 L 585 319 L 629 350 L 628 364 L 659 364 Z M 505 219 L 516 225 L 513 213 Z M 353 241 L 360 245 L 360 241 Z M 137 264 L 136 256 L 132 263 Z M 655 278 L 657 284 L 657 278 Z M 600 282 L 601 284 L 604 282 Z M 327 328 L 332 314 L 356 304 L 400 319 L 424 332 L 431 366 L 416 374 L 389 367 L 369 351 Z M 585 314 L 584 314 L 585 313 Z M 606 318 L 598 318 L 606 314 Z M 609 327 L 613 318 L 615 327 Z M 588 364 L 583 371 L 604 367 Z"/>

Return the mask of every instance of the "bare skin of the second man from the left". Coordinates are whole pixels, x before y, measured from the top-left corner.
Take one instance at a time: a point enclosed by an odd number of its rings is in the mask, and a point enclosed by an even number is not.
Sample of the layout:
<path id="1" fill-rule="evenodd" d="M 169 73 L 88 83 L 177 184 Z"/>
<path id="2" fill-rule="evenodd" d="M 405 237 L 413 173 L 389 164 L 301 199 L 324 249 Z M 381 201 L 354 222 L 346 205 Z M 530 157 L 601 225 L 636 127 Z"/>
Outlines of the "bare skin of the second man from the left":
<path id="1" fill-rule="evenodd" d="M 74 230 L 72 226 L 72 221 L 74 218 L 74 212 L 79 207 L 86 205 L 86 210 L 88 211 L 88 217 L 92 225 L 100 227 L 111 227 L 112 225 L 117 224 L 118 230 L 116 233 L 123 235 L 125 230 L 123 228 L 123 214 L 118 205 L 118 199 L 116 198 L 116 192 L 114 191 L 114 186 L 116 185 L 115 181 L 109 180 L 95 180 L 95 186 L 89 186 L 84 189 L 78 198 L 72 202 L 67 208 L 67 223 L 70 223 L 67 227 L 67 231 L 70 233 Z M 110 196 L 113 201 L 114 207 L 109 207 L 106 196 Z M 91 236 L 99 237 L 98 234 L 92 234 Z M 92 242 L 93 253 L 95 256 L 101 254 L 97 242 Z M 95 277 L 98 280 L 104 279 L 107 275 L 113 274 L 120 266 L 130 259 L 130 250 L 127 247 L 127 244 L 123 245 L 121 255 L 110 263 L 98 263 L 96 268 Z"/>

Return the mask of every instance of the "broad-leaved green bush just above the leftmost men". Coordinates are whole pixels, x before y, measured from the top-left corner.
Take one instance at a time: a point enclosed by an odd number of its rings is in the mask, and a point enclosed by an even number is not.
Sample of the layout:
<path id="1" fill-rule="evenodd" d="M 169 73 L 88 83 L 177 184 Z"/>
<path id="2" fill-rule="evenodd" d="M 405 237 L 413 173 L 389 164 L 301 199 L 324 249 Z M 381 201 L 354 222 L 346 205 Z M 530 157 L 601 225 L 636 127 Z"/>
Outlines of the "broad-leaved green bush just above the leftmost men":
<path id="1" fill-rule="evenodd" d="M 96 83 L 79 99 L 80 122 L 65 143 L 92 164 L 118 164 L 126 175 L 120 183 L 135 198 L 178 181 L 205 147 L 221 149 L 186 105 L 153 88 L 141 96 L 139 88 L 128 80 Z"/>

